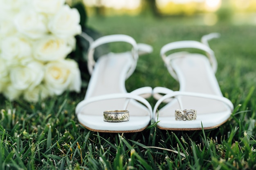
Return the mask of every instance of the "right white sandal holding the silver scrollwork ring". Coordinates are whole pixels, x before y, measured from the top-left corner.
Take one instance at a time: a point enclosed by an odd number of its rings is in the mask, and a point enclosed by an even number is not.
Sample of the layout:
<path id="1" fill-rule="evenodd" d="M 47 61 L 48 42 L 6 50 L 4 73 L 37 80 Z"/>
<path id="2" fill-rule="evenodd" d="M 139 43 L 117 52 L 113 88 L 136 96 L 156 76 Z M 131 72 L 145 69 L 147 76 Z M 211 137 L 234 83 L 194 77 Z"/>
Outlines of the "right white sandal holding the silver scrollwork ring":
<path id="1" fill-rule="evenodd" d="M 200 130 L 220 126 L 229 119 L 233 104 L 222 96 L 215 77 L 217 62 L 207 40 L 216 38 L 212 33 L 198 41 L 171 42 L 162 47 L 160 54 L 170 74 L 180 83 L 180 90 L 173 92 L 165 87 L 155 87 L 153 95 L 158 99 L 153 114 L 160 129 Z M 202 54 L 176 52 L 166 56 L 173 49 L 195 48 Z M 161 94 L 165 94 L 162 96 Z M 167 103 L 158 110 L 161 103 Z"/>

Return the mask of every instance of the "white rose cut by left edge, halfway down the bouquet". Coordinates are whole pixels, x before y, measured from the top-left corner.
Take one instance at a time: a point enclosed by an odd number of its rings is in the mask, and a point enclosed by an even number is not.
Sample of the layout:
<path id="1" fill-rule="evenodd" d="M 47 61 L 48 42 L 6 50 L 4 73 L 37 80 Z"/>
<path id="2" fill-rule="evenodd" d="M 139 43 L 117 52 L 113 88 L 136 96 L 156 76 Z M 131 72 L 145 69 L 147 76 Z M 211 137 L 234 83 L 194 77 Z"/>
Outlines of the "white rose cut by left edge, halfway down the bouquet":
<path id="1" fill-rule="evenodd" d="M 31 56 L 31 45 L 25 38 L 9 36 L 0 43 L 1 57 L 6 60 L 17 61 Z"/>

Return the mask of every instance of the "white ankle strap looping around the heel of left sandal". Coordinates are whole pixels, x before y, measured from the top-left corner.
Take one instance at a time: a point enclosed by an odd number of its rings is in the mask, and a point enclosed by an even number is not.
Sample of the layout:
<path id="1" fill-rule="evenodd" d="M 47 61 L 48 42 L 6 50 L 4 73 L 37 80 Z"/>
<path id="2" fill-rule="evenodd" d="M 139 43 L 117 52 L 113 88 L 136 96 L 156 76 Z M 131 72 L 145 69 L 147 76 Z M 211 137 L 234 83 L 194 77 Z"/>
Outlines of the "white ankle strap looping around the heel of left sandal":
<path id="1" fill-rule="evenodd" d="M 103 36 L 101 38 L 98 38 L 94 42 L 91 43 L 89 49 L 88 49 L 88 70 L 89 73 L 92 74 L 93 67 L 95 65 L 95 60 L 94 60 L 94 50 L 96 47 L 99 45 L 103 45 L 106 43 L 110 42 L 128 42 L 132 45 L 132 58 L 134 60 L 133 65 L 131 66 L 130 70 L 127 73 L 127 78 L 134 72 L 136 64 L 137 64 L 137 59 L 138 59 L 138 46 L 136 41 L 127 35 L 123 34 L 115 34 L 115 35 L 110 35 L 110 36 Z"/>

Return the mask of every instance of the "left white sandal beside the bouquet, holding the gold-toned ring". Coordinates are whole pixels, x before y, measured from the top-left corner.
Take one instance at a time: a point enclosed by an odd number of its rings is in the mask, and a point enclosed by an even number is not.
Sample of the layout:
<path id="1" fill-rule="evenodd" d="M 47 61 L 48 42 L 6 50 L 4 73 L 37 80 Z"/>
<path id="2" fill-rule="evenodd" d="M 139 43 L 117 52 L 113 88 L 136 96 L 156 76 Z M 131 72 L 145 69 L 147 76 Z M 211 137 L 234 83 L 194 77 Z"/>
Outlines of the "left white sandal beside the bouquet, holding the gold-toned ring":
<path id="1" fill-rule="evenodd" d="M 109 53 L 94 61 L 94 49 L 109 42 L 128 42 L 132 51 Z M 137 44 L 127 35 L 101 37 L 88 50 L 88 70 L 91 74 L 85 99 L 76 106 L 76 115 L 85 128 L 96 132 L 139 132 L 153 118 L 151 87 L 141 87 L 128 93 L 125 80 L 134 72 L 139 52 L 151 52 L 152 47 Z M 142 97 L 143 96 L 143 97 Z M 142 104 L 141 104 L 142 103 Z"/>

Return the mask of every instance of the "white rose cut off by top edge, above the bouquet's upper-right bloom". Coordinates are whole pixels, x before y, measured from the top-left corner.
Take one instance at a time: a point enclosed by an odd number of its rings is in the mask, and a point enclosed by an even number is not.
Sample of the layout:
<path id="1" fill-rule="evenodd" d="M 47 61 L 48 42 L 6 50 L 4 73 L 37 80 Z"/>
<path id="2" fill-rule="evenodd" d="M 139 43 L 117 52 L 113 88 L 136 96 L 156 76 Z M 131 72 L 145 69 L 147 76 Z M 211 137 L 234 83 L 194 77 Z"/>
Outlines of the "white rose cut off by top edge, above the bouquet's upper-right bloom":
<path id="1" fill-rule="evenodd" d="M 32 3 L 36 11 L 54 14 L 64 5 L 65 0 L 33 0 Z"/>

